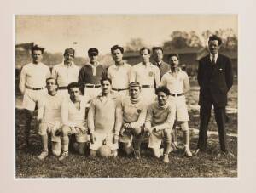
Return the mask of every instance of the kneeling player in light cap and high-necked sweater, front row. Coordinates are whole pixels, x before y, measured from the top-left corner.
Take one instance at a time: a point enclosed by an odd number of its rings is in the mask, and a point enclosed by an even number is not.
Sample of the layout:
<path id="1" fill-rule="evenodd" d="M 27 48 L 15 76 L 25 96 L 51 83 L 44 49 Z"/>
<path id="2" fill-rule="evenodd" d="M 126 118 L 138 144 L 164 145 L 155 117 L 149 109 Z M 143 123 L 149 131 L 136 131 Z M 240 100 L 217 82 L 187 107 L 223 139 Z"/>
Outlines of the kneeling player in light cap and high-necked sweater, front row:
<path id="1" fill-rule="evenodd" d="M 136 159 L 140 159 L 140 148 L 143 140 L 143 125 L 146 119 L 148 106 L 140 97 L 141 85 L 131 82 L 129 85 L 130 97 L 122 100 L 123 126 L 120 132 L 120 142 L 125 153 L 129 155 L 134 150 Z M 131 145 L 133 142 L 133 145 Z"/>

